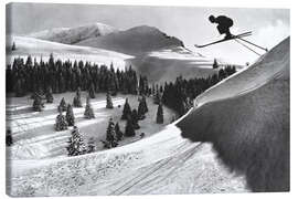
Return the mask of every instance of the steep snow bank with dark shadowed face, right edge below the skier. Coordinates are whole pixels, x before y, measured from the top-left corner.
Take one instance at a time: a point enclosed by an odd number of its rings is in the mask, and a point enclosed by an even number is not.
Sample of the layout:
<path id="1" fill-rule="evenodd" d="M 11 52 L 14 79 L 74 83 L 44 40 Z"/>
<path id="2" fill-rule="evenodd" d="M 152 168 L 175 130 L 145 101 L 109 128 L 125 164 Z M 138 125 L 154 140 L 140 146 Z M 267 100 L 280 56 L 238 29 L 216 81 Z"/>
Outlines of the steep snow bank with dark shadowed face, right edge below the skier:
<path id="1" fill-rule="evenodd" d="M 212 143 L 253 191 L 289 190 L 289 40 L 199 96 L 178 123 L 183 137 Z"/>

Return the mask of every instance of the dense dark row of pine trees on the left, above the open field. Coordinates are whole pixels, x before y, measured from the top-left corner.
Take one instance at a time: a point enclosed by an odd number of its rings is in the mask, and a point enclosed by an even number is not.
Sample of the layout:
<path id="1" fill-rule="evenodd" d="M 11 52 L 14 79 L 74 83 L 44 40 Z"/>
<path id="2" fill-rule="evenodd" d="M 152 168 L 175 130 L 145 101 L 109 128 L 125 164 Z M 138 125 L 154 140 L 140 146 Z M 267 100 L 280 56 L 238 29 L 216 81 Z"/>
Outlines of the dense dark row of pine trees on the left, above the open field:
<path id="1" fill-rule="evenodd" d="M 54 60 L 50 55 L 47 62 L 41 57 L 26 60 L 15 57 L 12 65 L 7 66 L 7 92 L 14 92 L 15 96 L 24 96 L 28 93 L 45 94 L 88 91 L 89 97 L 95 98 L 96 93 L 110 92 L 111 96 L 118 92 L 124 94 L 138 93 L 138 77 L 135 70 L 129 66 L 125 71 L 115 70 L 113 63 L 107 65 L 92 64 L 83 61 Z M 140 76 L 141 93 L 148 92 L 147 77 Z"/>

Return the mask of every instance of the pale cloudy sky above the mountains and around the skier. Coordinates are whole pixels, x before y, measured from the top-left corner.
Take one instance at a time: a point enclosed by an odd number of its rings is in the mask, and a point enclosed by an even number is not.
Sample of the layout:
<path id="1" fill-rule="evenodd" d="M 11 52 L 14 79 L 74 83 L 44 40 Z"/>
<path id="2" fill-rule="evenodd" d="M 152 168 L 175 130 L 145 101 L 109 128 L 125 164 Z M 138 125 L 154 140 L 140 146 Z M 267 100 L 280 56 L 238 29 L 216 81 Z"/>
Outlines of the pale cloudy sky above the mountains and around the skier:
<path id="1" fill-rule="evenodd" d="M 100 22 L 118 29 L 136 25 L 151 25 L 169 35 L 182 40 L 187 48 L 211 57 L 244 64 L 257 56 L 234 41 L 195 49 L 221 39 L 216 25 L 209 22 L 210 14 L 225 14 L 234 20 L 232 33 L 253 31 L 248 40 L 266 48 L 273 48 L 290 33 L 289 10 L 286 9 L 231 9 L 191 7 L 131 7 L 131 6 L 83 6 L 13 3 L 11 15 L 7 17 L 7 32 L 26 34 L 44 29 L 76 27 Z M 262 51 L 259 51 L 262 52 Z"/>

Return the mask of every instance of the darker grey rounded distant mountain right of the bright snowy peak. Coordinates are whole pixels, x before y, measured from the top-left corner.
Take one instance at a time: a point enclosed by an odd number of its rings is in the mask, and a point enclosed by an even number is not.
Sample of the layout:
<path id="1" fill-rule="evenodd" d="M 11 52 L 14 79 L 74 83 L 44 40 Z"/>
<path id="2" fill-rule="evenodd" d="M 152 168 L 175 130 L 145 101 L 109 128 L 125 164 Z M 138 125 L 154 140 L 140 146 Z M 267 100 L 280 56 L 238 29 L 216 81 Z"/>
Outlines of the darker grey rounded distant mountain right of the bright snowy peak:
<path id="1" fill-rule="evenodd" d="M 169 36 L 157 28 L 148 25 L 113 32 L 105 36 L 91 38 L 76 44 L 134 55 L 172 46 L 184 46 L 181 40 Z"/>

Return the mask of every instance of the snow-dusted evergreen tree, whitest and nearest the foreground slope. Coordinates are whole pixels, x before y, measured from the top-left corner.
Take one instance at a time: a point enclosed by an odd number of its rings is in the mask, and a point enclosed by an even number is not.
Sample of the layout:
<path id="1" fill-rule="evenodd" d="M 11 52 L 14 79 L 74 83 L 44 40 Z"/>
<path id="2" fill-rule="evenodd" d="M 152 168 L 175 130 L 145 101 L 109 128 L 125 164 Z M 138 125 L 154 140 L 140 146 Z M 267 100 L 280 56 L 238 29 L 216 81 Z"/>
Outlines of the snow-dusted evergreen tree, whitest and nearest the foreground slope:
<path id="1" fill-rule="evenodd" d="M 68 156 L 78 156 L 87 153 L 86 145 L 76 126 L 74 126 L 72 130 L 72 136 L 70 137 L 66 149 L 68 151 Z"/>

